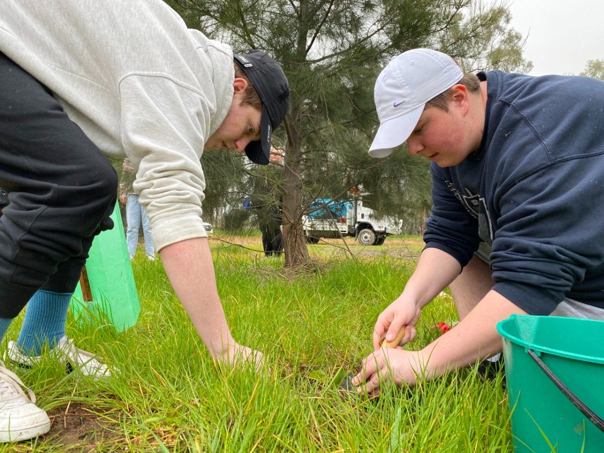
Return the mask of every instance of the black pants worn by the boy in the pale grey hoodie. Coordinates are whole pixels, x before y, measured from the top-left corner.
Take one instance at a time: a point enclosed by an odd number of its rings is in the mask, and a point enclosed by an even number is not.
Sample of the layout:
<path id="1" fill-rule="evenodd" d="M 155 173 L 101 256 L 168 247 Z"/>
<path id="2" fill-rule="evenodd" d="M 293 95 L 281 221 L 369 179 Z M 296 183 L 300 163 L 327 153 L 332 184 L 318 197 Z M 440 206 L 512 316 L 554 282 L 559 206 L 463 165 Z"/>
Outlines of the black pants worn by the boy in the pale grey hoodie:
<path id="1" fill-rule="evenodd" d="M 0 53 L 0 317 L 39 288 L 71 292 L 112 228 L 117 174 L 51 92 Z"/>

